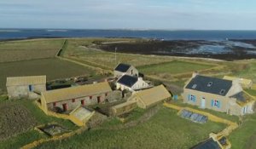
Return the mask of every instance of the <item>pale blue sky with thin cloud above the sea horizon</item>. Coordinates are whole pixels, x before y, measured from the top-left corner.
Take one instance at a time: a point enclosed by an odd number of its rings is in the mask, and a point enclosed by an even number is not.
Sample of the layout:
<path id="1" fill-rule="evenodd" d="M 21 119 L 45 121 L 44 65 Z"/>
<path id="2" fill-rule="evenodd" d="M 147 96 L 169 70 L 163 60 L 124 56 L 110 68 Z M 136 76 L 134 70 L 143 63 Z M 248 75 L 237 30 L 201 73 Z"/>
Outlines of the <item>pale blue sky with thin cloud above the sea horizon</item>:
<path id="1" fill-rule="evenodd" d="M 256 1 L 1 0 L 0 28 L 256 30 Z"/>

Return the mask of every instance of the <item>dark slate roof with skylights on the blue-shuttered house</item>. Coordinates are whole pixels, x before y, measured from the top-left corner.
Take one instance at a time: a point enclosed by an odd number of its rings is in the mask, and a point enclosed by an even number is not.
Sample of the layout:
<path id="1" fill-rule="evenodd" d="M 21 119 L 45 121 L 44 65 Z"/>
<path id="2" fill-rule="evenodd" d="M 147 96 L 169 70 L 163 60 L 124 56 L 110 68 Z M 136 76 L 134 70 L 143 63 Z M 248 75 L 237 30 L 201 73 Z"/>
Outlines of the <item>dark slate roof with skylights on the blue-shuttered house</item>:
<path id="1" fill-rule="evenodd" d="M 232 81 L 215 77 L 197 75 L 191 79 L 186 89 L 193 89 L 214 95 L 227 95 L 232 86 Z"/>

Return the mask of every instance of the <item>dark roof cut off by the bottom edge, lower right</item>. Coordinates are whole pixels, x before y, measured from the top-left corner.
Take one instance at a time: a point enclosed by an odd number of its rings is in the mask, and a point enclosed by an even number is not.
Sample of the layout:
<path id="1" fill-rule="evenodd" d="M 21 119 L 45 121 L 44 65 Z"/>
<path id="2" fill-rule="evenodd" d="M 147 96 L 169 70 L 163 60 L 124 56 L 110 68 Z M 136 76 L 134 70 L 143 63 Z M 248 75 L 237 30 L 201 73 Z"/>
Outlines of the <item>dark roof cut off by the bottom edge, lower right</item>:
<path id="1" fill-rule="evenodd" d="M 199 143 L 196 146 L 191 147 L 191 149 L 221 149 L 218 142 L 214 141 L 212 138 Z"/>

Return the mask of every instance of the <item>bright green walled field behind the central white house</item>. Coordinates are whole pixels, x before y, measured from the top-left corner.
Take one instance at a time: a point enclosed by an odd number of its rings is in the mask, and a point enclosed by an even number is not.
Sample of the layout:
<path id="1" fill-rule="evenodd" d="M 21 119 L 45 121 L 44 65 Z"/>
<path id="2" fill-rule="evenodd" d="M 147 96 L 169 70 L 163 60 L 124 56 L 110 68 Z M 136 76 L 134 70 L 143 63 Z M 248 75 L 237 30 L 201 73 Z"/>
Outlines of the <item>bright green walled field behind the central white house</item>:
<path id="1" fill-rule="evenodd" d="M 183 73 L 183 72 L 200 71 L 200 70 L 204 70 L 211 67 L 212 67 L 211 65 L 203 65 L 203 64 L 196 64 L 193 62 L 173 60 L 171 62 L 166 62 L 161 64 L 140 66 L 138 67 L 138 70 L 148 75 L 158 74 L 158 73 L 177 74 L 177 73 Z"/>

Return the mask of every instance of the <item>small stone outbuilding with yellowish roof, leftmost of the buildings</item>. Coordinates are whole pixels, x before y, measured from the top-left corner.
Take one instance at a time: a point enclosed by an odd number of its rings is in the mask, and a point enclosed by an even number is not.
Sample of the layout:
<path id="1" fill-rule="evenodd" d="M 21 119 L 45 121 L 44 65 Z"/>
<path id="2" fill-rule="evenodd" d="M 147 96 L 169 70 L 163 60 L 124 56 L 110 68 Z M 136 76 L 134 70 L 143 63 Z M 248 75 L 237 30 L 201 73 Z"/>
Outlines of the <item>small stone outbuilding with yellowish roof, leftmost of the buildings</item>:
<path id="1" fill-rule="evenodd" d="M 46 76 L 7 77 L 6 88 L 10 99 L 37 99 L 46 90 Z"/>

